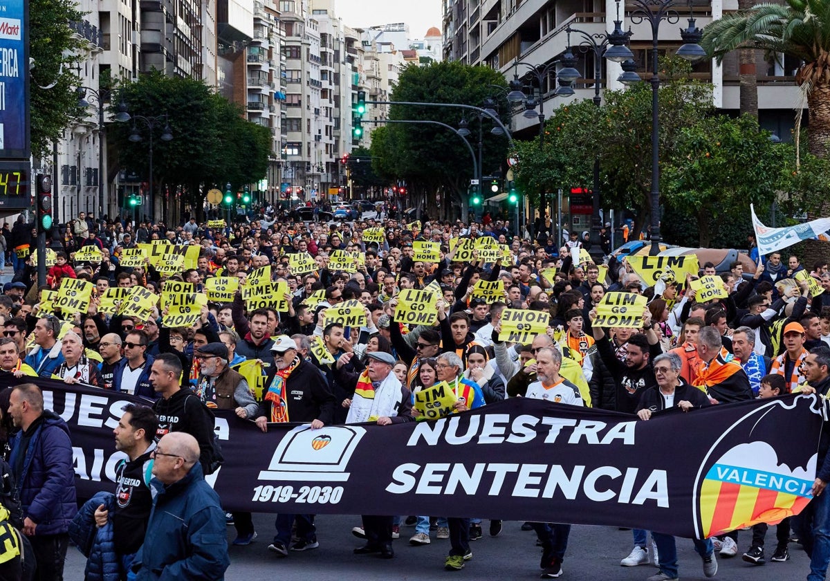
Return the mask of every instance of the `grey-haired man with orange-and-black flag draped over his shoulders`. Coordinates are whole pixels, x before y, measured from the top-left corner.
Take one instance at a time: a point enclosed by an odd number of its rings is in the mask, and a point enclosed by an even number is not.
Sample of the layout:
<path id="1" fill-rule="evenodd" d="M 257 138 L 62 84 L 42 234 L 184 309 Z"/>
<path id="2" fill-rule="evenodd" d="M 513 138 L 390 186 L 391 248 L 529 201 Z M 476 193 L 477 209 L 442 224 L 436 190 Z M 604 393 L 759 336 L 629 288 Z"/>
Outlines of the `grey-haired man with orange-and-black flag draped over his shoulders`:
<path id="1" fill-rule="evenodd" d="M 705 388 L 712 403 L 743 402 L 752 399 L 752 388 L 744 369 L 735 359 L 727 359 L 720 331 L 708 326 L 697 335 L 697 354 L 703 365 L 696 387 Z"/>

